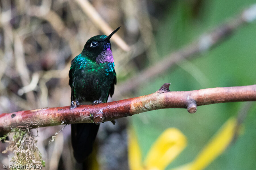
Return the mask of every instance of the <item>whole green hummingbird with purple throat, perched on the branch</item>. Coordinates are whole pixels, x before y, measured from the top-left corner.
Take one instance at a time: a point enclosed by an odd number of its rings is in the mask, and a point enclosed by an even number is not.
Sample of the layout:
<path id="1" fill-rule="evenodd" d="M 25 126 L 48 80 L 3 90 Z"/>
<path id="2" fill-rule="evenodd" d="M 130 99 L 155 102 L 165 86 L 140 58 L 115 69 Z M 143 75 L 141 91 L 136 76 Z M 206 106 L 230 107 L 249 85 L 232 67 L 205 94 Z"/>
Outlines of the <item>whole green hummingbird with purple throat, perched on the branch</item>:
<path id="1" fill-rule="evenodd" d="M 106 103 L 114 93 L 116 73 L 110 35 L 96 35 L 88 39 L 82 52 L 71 61 L 69 86 L 71 109 L 79 104 Z M 71 124 L 71 142 L 77 162 L 84 162 L 92 152 L 92 145 L 99 129 L 98 124 Z"/>

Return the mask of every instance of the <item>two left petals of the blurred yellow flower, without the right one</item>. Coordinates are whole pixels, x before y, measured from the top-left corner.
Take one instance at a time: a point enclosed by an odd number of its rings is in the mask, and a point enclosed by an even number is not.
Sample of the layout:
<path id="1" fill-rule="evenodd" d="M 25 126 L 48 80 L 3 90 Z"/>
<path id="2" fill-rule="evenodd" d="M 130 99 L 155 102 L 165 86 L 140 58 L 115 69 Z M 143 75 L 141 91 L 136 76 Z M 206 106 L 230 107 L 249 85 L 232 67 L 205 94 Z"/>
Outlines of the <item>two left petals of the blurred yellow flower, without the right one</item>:
<path id="1" fill-rule="evenodd" d="M 144 163 L 137 137 L 129 130 L 128 158 L 131 170 L 163 170 L 187 146 L 186 137 L 176 128 L 166 129 L 151 146 Z"/>

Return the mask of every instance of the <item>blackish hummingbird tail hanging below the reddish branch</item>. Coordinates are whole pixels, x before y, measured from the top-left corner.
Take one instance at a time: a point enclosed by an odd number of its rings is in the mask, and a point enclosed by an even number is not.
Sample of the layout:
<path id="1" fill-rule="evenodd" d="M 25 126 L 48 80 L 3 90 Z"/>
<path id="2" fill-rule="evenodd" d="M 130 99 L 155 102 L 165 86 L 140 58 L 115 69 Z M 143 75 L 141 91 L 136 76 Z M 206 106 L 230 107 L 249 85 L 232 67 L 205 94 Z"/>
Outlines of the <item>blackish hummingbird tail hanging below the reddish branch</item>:
<path id="1" fill-rule="evenodd" d="M 99 126 L 94 123 L 71 124 L 71 141 L 77 162 L 84 162 L 92 152 Z"/>

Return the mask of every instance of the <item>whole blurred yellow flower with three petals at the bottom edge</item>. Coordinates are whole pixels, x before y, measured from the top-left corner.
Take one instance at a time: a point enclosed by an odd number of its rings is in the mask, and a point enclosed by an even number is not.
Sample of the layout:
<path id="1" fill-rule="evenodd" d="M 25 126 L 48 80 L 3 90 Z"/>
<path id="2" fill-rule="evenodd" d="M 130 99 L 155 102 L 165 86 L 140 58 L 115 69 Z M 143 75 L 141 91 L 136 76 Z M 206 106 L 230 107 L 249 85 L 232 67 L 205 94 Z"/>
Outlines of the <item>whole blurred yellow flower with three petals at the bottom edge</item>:
<path id="1" fill-rule="evenodd" d="M 228 119 L 191 163 L 172 170 L 201 170 L 217 158 L 232 142 L 235 118 Z M 128 131 L 128 159 L 131 170 L 164 170 L 187 146 L 186 137 L 176 128 L 166 129 L 151 146 L 144 162 L 134 130 Z"/>

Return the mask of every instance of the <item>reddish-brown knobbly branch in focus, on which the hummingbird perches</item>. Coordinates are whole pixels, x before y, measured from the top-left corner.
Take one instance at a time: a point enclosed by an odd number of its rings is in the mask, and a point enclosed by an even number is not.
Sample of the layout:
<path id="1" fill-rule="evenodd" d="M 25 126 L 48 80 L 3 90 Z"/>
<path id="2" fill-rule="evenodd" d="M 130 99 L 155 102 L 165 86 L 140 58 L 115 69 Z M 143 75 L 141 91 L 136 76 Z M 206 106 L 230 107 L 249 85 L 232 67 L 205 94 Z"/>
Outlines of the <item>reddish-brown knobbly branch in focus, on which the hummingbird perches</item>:
<path id="1" fill-rule="evenodd" d="M 166 108 L 187 108 L 190 113 L 197 106 L 235 101 L 256 101 L 256 84 L 251 86 L 220 87 L 185 92 L 170 92 L 165 83 L 153 94 L 101 103 L 98 105 L 79 105 L 75 109 L 66 107 L 43 108 L 0 115 L 0 133 L 11 128 L 30 126 L 31 128 L 55 126 L 63 122 L 101 123 L 117 118 L 132 116 L 141 112 Z"/>

